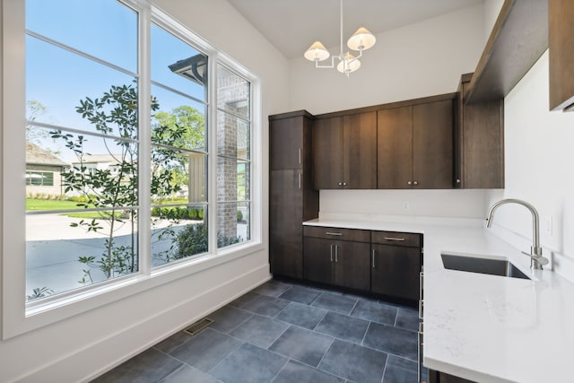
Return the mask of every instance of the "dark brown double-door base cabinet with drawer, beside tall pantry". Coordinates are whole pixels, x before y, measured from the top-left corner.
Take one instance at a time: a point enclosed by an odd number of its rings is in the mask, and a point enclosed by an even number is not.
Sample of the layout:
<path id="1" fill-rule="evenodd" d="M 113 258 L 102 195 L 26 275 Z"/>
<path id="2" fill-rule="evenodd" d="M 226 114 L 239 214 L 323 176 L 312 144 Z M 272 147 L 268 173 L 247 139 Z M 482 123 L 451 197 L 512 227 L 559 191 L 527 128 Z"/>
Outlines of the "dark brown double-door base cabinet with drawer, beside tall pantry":
<path id="1" fill-rule="evenodd" d="M 370 231 L 305 226 L 303 275 L 308 281 L 370 289 Z"/>

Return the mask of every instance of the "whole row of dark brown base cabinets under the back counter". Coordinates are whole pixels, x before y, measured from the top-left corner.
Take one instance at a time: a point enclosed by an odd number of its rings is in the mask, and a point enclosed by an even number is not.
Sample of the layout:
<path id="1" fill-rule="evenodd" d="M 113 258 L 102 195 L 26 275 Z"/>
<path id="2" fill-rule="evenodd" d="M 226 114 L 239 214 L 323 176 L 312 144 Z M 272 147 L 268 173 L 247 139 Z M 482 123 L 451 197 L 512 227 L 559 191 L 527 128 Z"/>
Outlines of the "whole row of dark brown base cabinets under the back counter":
<path id="1" fill-rule="evenodd" d="M 401 300 L 419 299 L 422 235 L 303 227 L 303 279 Z"/>

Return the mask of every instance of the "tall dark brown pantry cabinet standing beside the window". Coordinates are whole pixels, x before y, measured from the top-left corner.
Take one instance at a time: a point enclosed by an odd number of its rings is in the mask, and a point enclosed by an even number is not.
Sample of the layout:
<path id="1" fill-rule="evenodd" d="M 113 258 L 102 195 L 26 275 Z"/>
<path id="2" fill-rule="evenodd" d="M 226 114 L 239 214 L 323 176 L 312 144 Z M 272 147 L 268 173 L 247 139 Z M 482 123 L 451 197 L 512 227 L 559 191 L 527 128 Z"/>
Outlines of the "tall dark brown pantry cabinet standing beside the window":
<path id="1" fill-rule="evenodd" d="M 311 187 L 311 124 L 305 111 L 269 117 L 269 262 L 271 273 L 303 277 L 301 224 L 317 218 Z"/>

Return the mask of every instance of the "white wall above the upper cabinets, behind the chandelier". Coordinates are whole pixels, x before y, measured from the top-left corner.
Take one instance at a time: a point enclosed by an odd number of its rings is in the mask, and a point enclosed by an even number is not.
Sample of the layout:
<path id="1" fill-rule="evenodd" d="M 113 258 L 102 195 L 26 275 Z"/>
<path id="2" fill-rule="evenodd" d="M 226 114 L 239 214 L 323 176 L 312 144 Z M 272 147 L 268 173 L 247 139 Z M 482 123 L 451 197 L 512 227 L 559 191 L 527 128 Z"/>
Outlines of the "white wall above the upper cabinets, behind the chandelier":
<path id="1" fill-rule="evenodd" d="M 350 78 L 315 68 L 301 52 L 291 60 L 291 110 L 319 114 L 457 91 L 483 52 L 483 17 L 478 4 L 378 34 Z"/>

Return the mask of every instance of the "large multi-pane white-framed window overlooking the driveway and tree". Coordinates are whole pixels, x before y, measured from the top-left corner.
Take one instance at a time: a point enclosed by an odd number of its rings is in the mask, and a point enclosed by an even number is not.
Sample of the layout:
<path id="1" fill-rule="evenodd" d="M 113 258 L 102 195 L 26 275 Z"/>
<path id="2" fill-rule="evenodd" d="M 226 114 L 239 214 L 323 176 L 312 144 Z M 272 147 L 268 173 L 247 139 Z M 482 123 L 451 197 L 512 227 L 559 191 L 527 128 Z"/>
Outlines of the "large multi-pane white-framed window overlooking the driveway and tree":
<path id="1" fill-rule="evenodd" d="M 158 14 L 26 0 L 28 301 L 252 238 L 251 81 Z"/>

